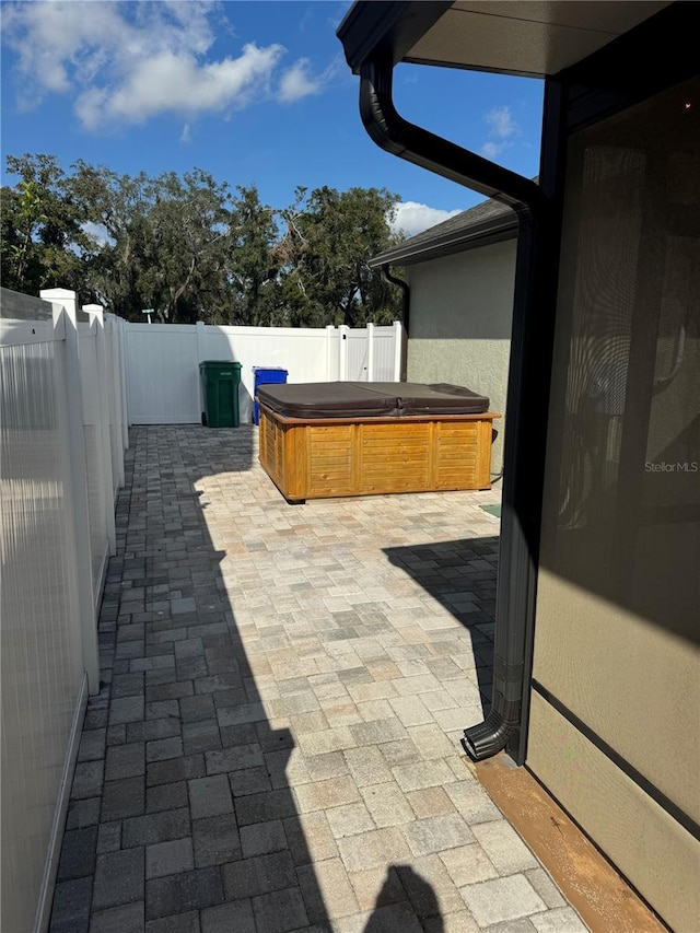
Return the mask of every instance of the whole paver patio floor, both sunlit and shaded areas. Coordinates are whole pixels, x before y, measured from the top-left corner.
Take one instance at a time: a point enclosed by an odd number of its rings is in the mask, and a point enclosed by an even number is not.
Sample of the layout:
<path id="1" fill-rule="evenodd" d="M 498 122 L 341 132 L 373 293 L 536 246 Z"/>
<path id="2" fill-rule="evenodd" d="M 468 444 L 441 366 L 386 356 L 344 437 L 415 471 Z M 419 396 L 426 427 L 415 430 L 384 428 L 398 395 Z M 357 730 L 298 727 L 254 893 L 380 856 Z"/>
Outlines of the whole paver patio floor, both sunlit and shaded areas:
<path id="1" fill-rule="evenodd" d="M 458 743 L 498 491 L 291 506 L 256 441 L 132 430 L 51 933 L 585 930 Z"/>

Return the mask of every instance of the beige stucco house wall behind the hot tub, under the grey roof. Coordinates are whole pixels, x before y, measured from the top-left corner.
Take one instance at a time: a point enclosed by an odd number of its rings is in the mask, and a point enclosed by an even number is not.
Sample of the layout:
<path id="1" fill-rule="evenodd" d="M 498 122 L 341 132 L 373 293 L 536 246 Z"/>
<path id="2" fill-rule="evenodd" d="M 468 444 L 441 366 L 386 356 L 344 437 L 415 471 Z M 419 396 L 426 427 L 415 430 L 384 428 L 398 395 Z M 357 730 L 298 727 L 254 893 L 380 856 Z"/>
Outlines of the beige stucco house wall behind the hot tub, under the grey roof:
<path id="1" fill-rule="evenodd" d="M 515 240 L 407 268 L 411 289 L 407 378 L 488 395 L 505 413 Z M 492 473 L 503 464 L 505 418 L 495 422 Z"/>

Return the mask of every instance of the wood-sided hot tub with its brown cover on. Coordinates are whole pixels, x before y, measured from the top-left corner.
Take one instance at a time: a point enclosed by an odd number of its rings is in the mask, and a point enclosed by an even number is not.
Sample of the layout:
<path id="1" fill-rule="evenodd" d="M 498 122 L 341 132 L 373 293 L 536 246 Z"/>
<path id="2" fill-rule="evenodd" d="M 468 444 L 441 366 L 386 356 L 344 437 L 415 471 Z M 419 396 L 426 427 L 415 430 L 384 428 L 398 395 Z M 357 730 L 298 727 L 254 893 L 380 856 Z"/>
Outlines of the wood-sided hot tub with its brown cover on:
<path id="1" fill-rule="evenodd" d="M 290 502 L 490 489 L 489 399 L 418 383 L 261 385 L 259 458 Z"/>

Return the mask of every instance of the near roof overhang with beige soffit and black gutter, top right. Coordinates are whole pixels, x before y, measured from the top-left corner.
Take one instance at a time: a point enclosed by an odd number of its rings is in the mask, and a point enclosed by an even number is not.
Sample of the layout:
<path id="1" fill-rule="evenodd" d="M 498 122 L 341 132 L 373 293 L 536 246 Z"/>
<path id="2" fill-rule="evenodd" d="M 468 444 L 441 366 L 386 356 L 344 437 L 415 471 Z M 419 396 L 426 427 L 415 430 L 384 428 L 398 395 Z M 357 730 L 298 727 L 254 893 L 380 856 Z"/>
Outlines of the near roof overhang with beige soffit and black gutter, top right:
<path id="1" fill-rule="evenodd" d="M 546 78 L 587 58 L 669 0 L 358 0 L 338 27 L 358 73 L 381 57 Z"/>

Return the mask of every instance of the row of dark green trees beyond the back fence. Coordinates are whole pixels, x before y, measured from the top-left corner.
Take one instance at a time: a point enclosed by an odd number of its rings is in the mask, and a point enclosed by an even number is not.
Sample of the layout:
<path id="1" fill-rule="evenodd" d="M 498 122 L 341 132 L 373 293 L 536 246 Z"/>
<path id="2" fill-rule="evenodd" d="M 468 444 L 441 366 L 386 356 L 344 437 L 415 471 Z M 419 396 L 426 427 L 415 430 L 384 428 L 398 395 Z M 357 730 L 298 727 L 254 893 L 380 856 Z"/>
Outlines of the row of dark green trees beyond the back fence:
<path id="1" fill-rule="evenodd" d="M 207 172 L 131 177 L 52 155 L 8 156 L 2 280 L 62 285 L 130 319 L 257 326 L 362 326 L 400 318 L 397 289 L 368 260 L 397 242 L 385 188 L 299 187 L 272 208 L 255 185 Z"/>

